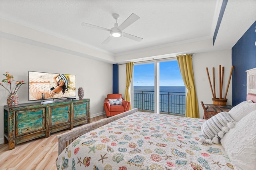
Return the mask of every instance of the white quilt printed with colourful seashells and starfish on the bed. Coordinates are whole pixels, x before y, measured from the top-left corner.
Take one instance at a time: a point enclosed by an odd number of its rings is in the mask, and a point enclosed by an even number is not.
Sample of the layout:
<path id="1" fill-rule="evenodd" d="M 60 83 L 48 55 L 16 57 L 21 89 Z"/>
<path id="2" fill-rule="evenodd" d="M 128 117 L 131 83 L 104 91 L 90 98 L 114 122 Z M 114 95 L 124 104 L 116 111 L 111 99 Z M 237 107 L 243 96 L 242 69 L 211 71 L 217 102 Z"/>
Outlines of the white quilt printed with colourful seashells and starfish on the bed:
<path id="1" fill-rule="evenodd" d="M 200 143 L 204 119 L 136 112 L 88 132 L 58 156 L 68 170 L 232 170 L 221 144 Z"/>

